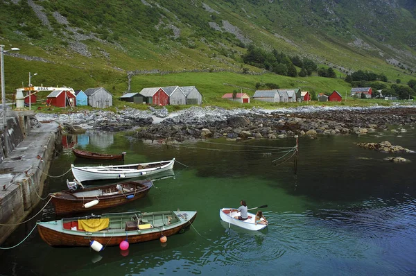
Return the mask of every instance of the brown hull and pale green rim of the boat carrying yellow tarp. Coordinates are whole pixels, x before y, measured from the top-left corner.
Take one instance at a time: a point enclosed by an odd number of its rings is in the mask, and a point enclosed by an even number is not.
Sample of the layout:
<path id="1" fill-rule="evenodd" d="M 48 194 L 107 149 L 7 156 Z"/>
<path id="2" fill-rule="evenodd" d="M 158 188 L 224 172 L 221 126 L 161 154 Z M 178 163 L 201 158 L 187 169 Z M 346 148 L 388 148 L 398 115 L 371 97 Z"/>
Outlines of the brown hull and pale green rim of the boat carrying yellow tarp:
<path id="1" fill-rule="evenodd" d="M 162 234 L 164 236 L 171 236 L 182 232 L 185 228 L 189 227 L 196 218 L 196 211 L 174 211 L 174 212 L 156 212 L 147 214 L 173 214 L 177 218 L 177 222 L 172 224 L 161 225 L 159 227 L 153 227 L 146 230 L 132 230 L 128 231 L 123 228 L 101 230 L 98 232 L 83 232 L 76 230 L 67 230 L 62 226 L 64 222 L 69 222 L 71 219 L 62 219 L 59 221 L 50 221 L 44 223 L 37 223 L 37 230 L 42 239 L 53 247 L 76 247 L 76 246 L 89 246 L 91 241 L 98 241 L 104 246 L 119 245 L 121 241 L 128 240 L 129 243 L 141 243 L 144 241 L 152 241 L 159 239 Z M 135 213 L 123 213 L 134 214 L 137 216 L 143 216 L 140 212 Z M 186 218 L 181 214 L 187 214 Z M 111 214 L 109 214 L 111 215 Z M 103 214 L 101 218 L 105 218 Z M 111 218 L 110 218 L 111 219 Z M 111 225 L 111 223 L 110 223 Z"/>

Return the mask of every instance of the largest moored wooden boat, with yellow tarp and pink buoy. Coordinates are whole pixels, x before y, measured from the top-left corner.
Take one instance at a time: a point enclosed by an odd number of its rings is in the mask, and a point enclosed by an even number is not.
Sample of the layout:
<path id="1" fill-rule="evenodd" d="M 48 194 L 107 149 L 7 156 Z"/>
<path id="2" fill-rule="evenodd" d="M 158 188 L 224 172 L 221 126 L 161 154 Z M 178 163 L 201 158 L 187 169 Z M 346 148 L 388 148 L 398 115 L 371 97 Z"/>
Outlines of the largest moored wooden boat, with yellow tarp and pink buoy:
<path id="1" fill-rule="evenodd" d="M 119 245 L 122 241 L 140 243 L 171 236 L 186 230 L 196 211 L 125 212 L 62 218 L 37 222 L 42 239 L 54 247 Z M 95 248 L 93 248 L 96 250 Z"/>

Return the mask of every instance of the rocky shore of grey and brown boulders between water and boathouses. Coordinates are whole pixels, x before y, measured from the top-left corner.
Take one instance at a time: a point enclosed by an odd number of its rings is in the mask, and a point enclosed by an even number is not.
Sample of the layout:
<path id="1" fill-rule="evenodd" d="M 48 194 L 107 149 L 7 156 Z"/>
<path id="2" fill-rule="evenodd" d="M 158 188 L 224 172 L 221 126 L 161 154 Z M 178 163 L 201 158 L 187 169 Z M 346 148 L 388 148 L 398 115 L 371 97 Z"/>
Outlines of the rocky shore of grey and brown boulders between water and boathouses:
<path id="1" fill-rule="evenodd" d="M 94 110 L 71 114 L 36 114 L 38 121 L 58 121 L 83 129 L 134 130 L 142 139 L 277 139 L 294 135 L 362 135 L 376 130 L 404 132 L 416 124 L 415 106 L 296 107 L 278 110 L 226 110 L 190 107 L 175 113 L 166 108 L 116 112 Z M 389 125 L 399 128 L 389 129 Z M 406 126 L 406 128 L 405 128 Z"/>

